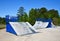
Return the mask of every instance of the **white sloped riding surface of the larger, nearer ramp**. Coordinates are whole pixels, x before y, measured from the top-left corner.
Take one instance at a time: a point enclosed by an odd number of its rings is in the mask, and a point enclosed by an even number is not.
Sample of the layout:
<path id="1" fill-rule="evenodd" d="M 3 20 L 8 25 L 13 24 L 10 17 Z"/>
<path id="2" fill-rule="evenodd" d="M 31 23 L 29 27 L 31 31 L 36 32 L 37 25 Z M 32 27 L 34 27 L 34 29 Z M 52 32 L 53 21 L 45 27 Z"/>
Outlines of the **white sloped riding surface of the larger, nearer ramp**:
<path id="1" fill-rule="evenodd" d="M 9 22 L 17 35 L 25 35 L 36 32 L 34 28 L 26 22 Z"/>

